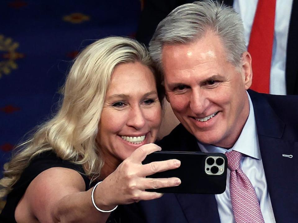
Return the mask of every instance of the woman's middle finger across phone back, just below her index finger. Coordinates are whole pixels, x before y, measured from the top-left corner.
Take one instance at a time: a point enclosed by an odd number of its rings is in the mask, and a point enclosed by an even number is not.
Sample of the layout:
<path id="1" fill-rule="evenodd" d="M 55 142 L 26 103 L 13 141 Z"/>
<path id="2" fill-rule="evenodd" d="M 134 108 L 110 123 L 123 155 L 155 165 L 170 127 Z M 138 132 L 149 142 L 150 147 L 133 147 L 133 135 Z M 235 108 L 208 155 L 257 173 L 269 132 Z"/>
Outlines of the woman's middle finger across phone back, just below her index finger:
<path id="1" fill-rule="evenodd" d="M 141 167 L 142 168 L 141 174 L 142 174 L 142 177 L 146 177 L 153 173 L 163 172 L 166 170 L 178 168 L 180 164 L 181 164 L 180 161 L 175 159 L 152 162 L 149 164 L 145 164 Z"/>

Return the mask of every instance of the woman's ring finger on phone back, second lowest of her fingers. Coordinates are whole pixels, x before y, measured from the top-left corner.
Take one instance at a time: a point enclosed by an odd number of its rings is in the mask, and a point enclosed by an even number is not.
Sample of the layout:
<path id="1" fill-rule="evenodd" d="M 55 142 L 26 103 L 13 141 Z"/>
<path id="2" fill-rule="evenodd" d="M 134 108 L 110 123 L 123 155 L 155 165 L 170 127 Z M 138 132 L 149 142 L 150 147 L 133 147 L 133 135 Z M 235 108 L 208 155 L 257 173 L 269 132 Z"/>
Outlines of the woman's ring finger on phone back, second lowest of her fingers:
<path id="1" fill-rule="evenodd" d="M 170 178 L 142 178 L 138 182 L 139 190 L 157 189 L 163 187 L 173 187 L 181 184 L 181 180 L 177 177 Z"/>

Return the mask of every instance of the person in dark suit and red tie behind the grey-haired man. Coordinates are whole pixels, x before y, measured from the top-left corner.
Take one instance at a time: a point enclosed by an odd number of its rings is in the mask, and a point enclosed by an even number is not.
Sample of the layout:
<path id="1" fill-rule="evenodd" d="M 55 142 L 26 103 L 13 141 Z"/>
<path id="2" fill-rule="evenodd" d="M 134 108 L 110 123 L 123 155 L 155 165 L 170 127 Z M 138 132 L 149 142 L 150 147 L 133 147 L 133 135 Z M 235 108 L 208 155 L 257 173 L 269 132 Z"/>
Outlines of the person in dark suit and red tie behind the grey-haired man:
<path id="1" fill-rule="evenodd" d="M 296 41 L 296 36 L 298 32 L 298 23 L 297 21 L 297 13 L 294 13 L 298 8 L 298 1 L 293 0 L 217 0 L 219 2 L 224 2 L 224 4 L 229 5 L 235 9 L 239 13 L 242 18 L 244 25 L 244 37 L 246 40 L 246 46 L 249 46 L 249 52 L 258 54 L 260 58 L 257 59 L 254 57 L 253 65 L 257 68 L 254 68 L 254 86 L 251 89 L 255 89 L 257 92 L 262 92 L 265 86 L 269 84 L 269 93 L 270 94 L 298 94 L 298 66 L 297 66 L 297 49 L 298 43 Z M 142 11 L 141 19 L 138 26 L 138 31 L 136 33 L 136 39 L 139 42 L 143 42 L 148 45 L 153 33 L 161 20 L 163 20 L 174 8 L 186 4 L 192 3 L 193 0 L 147 0 L 144 4 L 144 9 Z M 273 7 L 276 5 L 275 15 L 270 13 L 270 10 L 266 10 L 266 13 L 263 13 L 262 5 L 264 7 L 269 8 L 269 5 Z M 257 11 L 261 13 L 257 13 Z M 269 15 L 268 15 L 269 13 Z M 152 16 L 154 15 L 154 16 Z M 259 15 L 259 16 L 258 16 Z M 271 19 L 270 19 L 271 17 Z M 274 19 L 275 17 L 275 19 Z M 262 18 L 265 23 L 268 20 L 274 22 L 274 38 L 272 35 L 269 35 L 271 30 L 270 28 L 261 29 L 257 32 L 252 32 L 253 24 L 256 26 L 259 23 L 262 23 Z M 261 19 L 261 20 L 260 20 Z M 266 27 L 270 27 L 267 25 Z M 268 30 L 269 29 L 269 30 Z M 254 29 L 259 30 L 259 29 Z M 267 34 L 261 35 L 260 32 L 265 32 Z M 269 32 L 269 33 L 268 33 Z M 262 36 L 263 41 L 268 42 L 267 45 L 264 46 L 260 39 L 256 39 L 252 37 L 252 41 L 250 41 L 252 36 Z M 265 37 L 264 37 L 265 36 Z M 270 42 L 270 38 L 273 38 L 272 50 L 267 49 L 272 42 Z M 255 40 L 255 41 L 253 41 Z M 271 39 L 272 40 L 272 39 Z M 255 46 L 256 43 L 263 46 L 264 54 L 259 53 L 259 46 Z M 255 43 L 255 44 L 254 44 Z M 257 48 L 257 49 L 255 49 Z M 255 50 L 258 50 L 256 52 Z M 260 49 L 261 50 L 261 49 Z M 271 61 L 270 62 L 270 54 Z M 263 66 L 264 59 L 267 58 L 267 65 L 271 64 L 270 68 L 270 78 L 268 75 L 269 67 Z M 256 63 L 256 60 L 260 61 Z M 259 64 L 259 65 L 258 65 Z M 262 67 L 260 67 L 262 66 Z M 270 66 L 270 65 L 269 65 Z M 261 72 L 260 70 L 265 70 L 267 72 Z M 261 74 L 261 75 L 260 75 Z M 257 76 L 259 78 L 264 77 L 264 81 L 258 81 Z M 269 80 L 267 79 L 269 78 Z M 269 83 L 268 83 L 269 81 Z M 261 82 L 261 84 L 259 84 Z M 266 84 L 267 83 L 267 84 Z M 262 88 L 262 89 L 260 89 Z M 264 91 L 265 92 L 265 91 Z M 263 93 L 264 93 L 263 92 Z M 160 132 L 158 134 L 159 138 L 168 135 L 174 127 L 176 127 L 179 121 L 175 118 L 172 109 L 170 108 L 169 103 L 165 103 L 165 119 L 163 119 Z"/>

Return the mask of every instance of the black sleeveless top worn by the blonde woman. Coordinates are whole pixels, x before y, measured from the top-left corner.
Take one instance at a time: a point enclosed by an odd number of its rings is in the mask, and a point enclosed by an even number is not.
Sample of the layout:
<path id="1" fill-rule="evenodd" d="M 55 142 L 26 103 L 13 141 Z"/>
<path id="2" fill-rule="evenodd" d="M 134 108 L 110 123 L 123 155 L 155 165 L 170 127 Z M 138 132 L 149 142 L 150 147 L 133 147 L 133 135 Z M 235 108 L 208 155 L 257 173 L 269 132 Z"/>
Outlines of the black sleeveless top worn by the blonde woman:
<path id="1" fill-rule="evenodd" d="M 25 168 L 24 172 L 21 174 L 20 179 L 16 182 L 11 192 L 7 195 L 6 204 L 0 214 L 1 223 L 16 223 L 15 210 L 22 196 L 31 181 L 38 176 L 39 173 L 52 168 L 52 167 L 64 167 L 69 169 L 74 169 L 81 174 L 85 181 L 86 189 L 89 190 L 93 187 L 96 182 L 90 184 L 90 179 L 84 175 L 84 169 L 81 165 L 73 164 L 69 161 L 62 160 L 57 157 L 52 151 L 44 152 L 37 157 L 35 157 Z M 91 198 L 90 198 L 91 200 Z M 140 212 L 140 210 L 133 210 L 131 205 L 120 205 L 115 211 L 111 212 L 107 223 L 132 223 L 132 222 L 143 222 L 143 218 L 138 218 L 134 215 L 134 212 Z M 121 216 L 121 217 L 120 217 Z"/>

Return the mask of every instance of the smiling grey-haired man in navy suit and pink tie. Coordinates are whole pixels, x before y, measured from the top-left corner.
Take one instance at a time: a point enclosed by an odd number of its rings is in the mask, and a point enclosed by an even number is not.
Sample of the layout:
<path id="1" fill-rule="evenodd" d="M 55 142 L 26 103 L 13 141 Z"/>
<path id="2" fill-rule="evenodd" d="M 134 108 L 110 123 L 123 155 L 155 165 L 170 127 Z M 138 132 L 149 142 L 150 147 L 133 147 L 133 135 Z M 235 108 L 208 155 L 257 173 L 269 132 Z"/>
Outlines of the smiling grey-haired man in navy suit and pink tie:
<path id="1" fill-rule="evenodd" d="M 237 197 L 243 188 L 237 188 L 231 168 L 223 194 L 165 194 L 141 201 L 135 210 L 140 219 L 296 222 L 298 98 L 248 90 L 253 58 L 239 15 L 213 1 L 183 5 L 160 22 L 149 46 L 164 75 L 166 98 L 181 122 L 160 141 L 162 149 L 222 152 L 228 159 L 240 154 L 237 171 L 251 186 Z M 247 197 L 254 197 L 252 206 L 244 202 Z"/>

